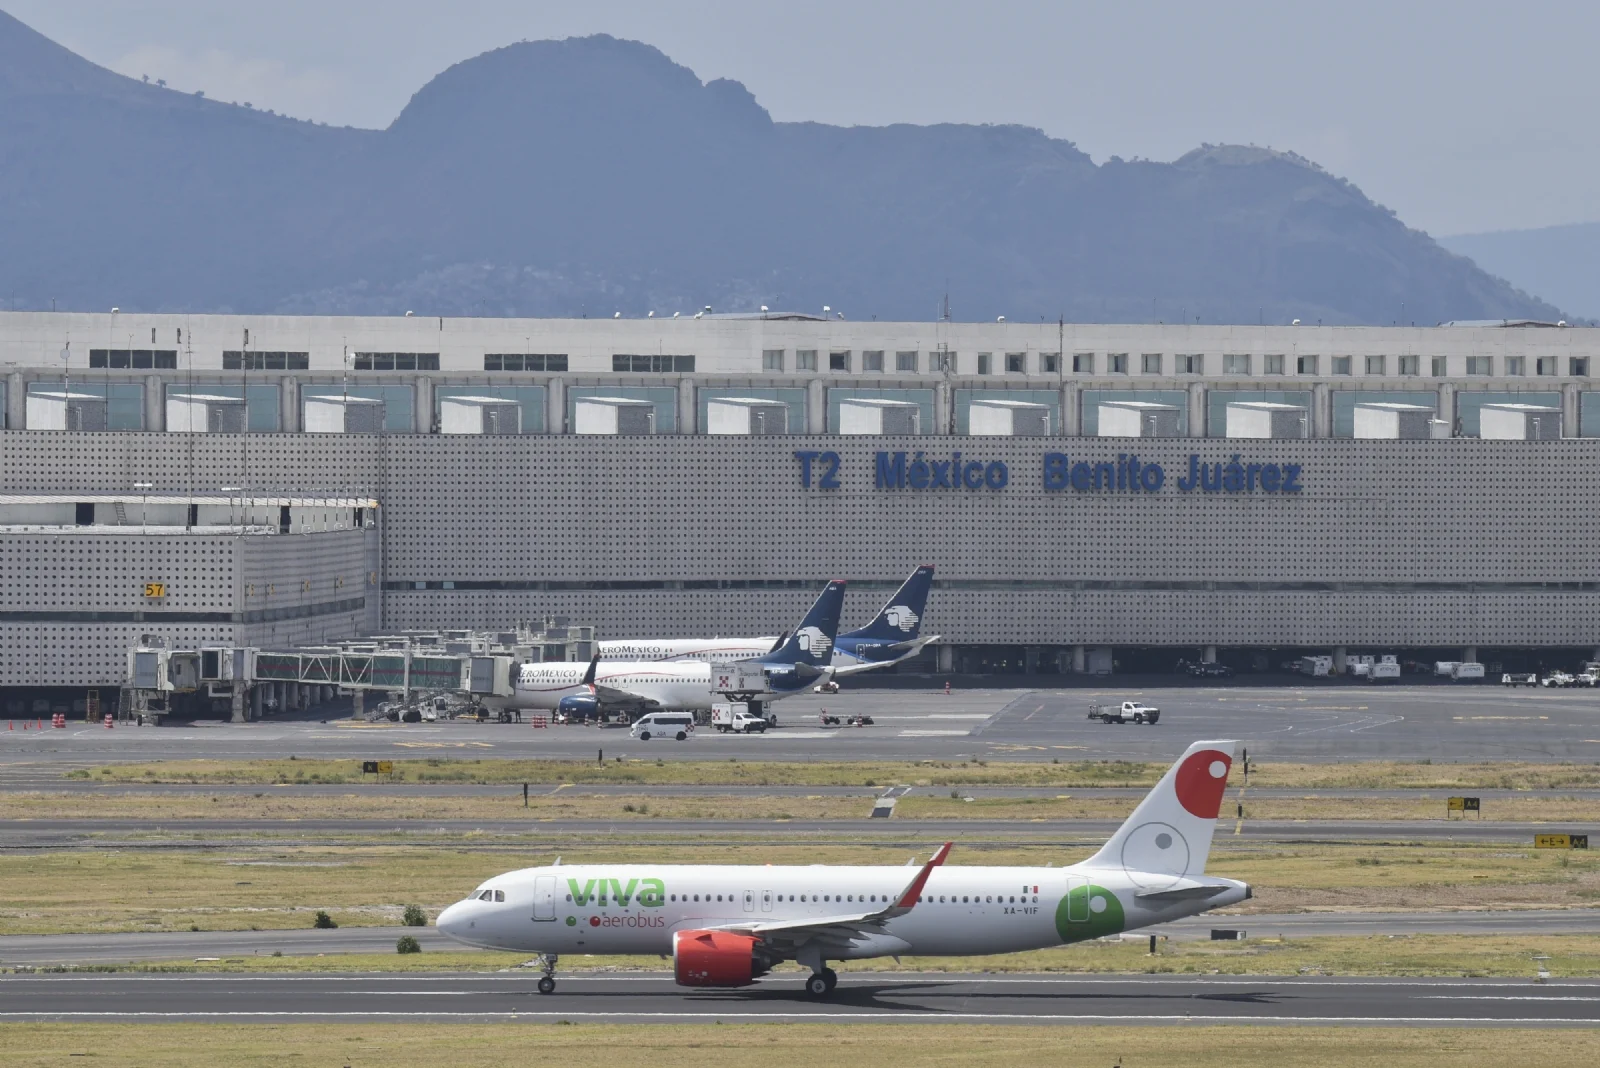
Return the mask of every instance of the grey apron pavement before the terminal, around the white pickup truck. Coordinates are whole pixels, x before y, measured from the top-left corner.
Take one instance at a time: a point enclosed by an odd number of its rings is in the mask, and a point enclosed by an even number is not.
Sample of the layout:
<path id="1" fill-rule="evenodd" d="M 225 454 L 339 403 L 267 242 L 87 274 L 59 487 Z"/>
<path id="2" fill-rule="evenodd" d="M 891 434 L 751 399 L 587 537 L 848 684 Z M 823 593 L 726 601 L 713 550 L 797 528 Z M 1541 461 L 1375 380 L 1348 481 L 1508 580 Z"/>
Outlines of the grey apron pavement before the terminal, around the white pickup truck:
<path id="1" fill-rule="evenodd" d="M 1090 702 L 1144 699 L 1155 726 L 1090 723 Z M 867 713 L 872 727 L 829 727 L 818 713 Z M 624 729 L 530 724 L 365 724 L 354 721 L 0 729 L 0 782 L 107 761 L 374 758 L 659 759 L 1138 759 L 1165 761 L 1202 737 L 1234 737 L 1258 761 L 1600 759 L 1600 691 L 1501 686 L 1195 686 L 1101 691 L 846 691 L 776 705 L 781 727 L 758 735 L 699 731 L 688 742 L 638 742 Z"/>

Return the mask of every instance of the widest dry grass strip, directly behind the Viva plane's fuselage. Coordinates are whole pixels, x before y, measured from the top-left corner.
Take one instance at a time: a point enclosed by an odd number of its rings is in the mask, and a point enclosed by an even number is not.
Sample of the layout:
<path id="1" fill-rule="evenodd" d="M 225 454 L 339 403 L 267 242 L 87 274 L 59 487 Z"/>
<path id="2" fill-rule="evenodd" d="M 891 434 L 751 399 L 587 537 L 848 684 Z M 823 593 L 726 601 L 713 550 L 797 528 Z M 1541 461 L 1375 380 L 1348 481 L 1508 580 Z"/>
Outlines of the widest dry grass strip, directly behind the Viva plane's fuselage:
<path id="1" fill-rule="evenodd" d="M 930 843 L 931 846 L 933 843 Z M 430 913 L 517 867 L 618 863 L 904 863 L 906 847 L 838 841 L 645 844 L 565 835 L 462 835 L 450 844 L 298 844 L 274 835 L 194 843 L 147 836 L 138 847 L 0 855 L 0 934 L 246 931 L 304 927 L 317 910 L 341 924 L 384 926 L 406 903 Z M 1062 865 L 1086 849 L 958 844 L 950 863 Z M 1600 855 L 1453 843 L 1370 846 L 1234 841 L 1208 870 L 1256 887 L 1248 911 L 1301 908 L 1594 907 Z"/>

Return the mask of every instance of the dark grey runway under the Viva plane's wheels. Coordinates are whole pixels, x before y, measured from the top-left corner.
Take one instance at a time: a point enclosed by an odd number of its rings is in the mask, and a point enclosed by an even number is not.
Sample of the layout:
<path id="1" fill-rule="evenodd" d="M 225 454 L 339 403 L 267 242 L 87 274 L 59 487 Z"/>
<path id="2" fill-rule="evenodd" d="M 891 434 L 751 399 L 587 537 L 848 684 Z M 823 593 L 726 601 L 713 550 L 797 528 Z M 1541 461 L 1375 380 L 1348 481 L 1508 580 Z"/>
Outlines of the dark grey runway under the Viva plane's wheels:
<path id="1" fill-rule="evenodd" d="M 798 974 L 742 990 L 670 975 L 3 975 L 0 1020 L 234 1023 L 1317 1023 L 1595 1026 L 1600 983 L 1152 975 L 850 974 L 826 1001 Z"/>

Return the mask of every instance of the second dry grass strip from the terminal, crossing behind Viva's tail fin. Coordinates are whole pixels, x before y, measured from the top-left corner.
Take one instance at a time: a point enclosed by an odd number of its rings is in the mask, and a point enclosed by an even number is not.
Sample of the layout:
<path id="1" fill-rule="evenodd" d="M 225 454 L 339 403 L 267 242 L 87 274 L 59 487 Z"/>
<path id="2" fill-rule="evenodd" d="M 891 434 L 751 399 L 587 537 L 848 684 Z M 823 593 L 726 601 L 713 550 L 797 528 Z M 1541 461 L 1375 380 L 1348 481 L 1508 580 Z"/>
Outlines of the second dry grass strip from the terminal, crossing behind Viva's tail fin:
<path id="1" fill-rule="evenodd" d="M 523 807 L 520 787 L 504 796 L 394 796 L 363 795 L 358 785 L 341 795 L 296 795 L 293 785 L 262 785 L 254 795 L 206 793 L 53 793 L 26 791 L 0 795 L 0 815 L 13 820 L 58 819 L 382 819 L 382 820 L 701 820 L 738 817 L 742 820 L 861 820 L 872 811 L 875 790 L 859 796 L 717 796 L 717 795 L 584 795 L 584 787 L 562 790 L 541 787 Z M 952 796 L 955 795 L 955 796 Z M 1235 795 L 1226 812 L 1234 812 Z M 939 793 L 910 793 L 894 809 L 896 820 L 1120 820 L 1133 811 L 1134 798 L 1094 796 L 1080 790 L 1054 798 L 973 798 L 962 788 Z M 1245 798 L 1245 814 L 1254 820 L 1443 820 L 1445 795 L 1418 791 L 1406 798 Z M 1491 799 L 1485 815 L 1512 822 L 1578 822 L 1600 819 L 1600 801 L 1573 796 L 1525 796 Z M 1531 833 L 1531 831 L 1530 831 Z"/>

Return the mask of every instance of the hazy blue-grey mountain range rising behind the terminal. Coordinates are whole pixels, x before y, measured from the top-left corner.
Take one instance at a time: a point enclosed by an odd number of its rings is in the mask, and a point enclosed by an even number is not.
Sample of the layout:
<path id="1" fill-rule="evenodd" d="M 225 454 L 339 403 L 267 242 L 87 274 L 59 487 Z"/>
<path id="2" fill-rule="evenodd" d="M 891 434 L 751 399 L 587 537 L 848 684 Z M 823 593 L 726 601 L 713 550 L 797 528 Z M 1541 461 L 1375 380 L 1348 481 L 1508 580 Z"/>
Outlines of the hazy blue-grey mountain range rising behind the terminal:
<path id="1" fill-rule="evenodd" d="M 467 59 L 352 130 L 126 78 L 0 13 L 0 145 L 8 307 L 1560 317 L 1294 153 L 779 123 L 603 35 Z"/>

